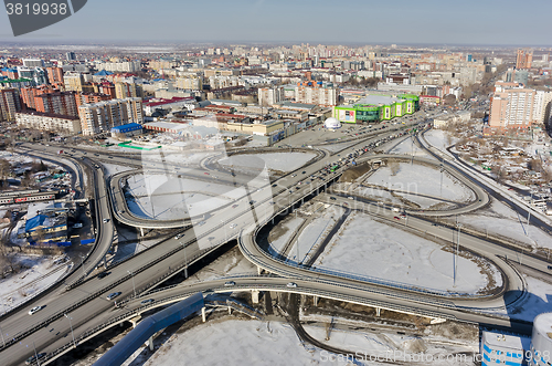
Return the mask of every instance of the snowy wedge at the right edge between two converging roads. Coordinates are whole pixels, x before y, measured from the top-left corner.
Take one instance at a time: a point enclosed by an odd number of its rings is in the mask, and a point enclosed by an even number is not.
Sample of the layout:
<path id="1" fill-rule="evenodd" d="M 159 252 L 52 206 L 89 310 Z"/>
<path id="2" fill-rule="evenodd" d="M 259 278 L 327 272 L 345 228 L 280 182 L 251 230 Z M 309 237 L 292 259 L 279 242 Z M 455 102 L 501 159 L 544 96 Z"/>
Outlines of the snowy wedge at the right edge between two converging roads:
<path id="1" fill-rule="evenodd" d="M 552 249 L 552 238 L 548 233 L 534 226 L 528 226 L 527 217 L 518 216 L 514 210 L 496 199 L 492 199 L 490 209 L 478 211 L 476 215 L 461 215 L 458 221 L 490 236 Z"/>

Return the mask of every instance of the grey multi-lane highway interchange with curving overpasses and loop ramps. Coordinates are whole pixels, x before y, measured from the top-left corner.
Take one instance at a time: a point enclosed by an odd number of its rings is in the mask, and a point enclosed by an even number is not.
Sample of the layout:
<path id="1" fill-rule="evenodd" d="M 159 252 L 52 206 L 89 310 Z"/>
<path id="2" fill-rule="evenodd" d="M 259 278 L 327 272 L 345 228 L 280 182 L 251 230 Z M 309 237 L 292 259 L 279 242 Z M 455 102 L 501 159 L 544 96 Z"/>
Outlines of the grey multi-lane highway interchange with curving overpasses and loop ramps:
<path id="1" fill-rule="evenodd" d="M 320 195 L 320 192 L 328 184 L 338 178 L 346 168 L 338 169 L 336 174 L 329 175 L 326 179 L 317 179 L 308 185 L 302 185 L 300 189 L 294 189 L 298 187 L 299 181 L 319 172 L 328 164 L 335 163 L 338 154 L 346 156 L 358 151 L 370 142 L 395 135 L 395 129 L 403 127 L 402 125 L 390 126 L 390 128 L 376 130 L 370 136 L 359 137 L 357 142 L 351 143 L 348 148 L 339 153 L 331 153 L 321 148 L 317 161 L 289 172 L 275 181 L 266 180 L 266 171 L 256 177 L 216 171 L 216 179 L 231 182 L 235 187 L 234 189 L 241 191 L 241 198 L 233 203 L 237 205 L 237 207 L 226 205 L 210 212 L 208 217 L 202 218 L 205 221 L 205 224 L 202 226 L 192 226 L 193 220 L 182 220 L 181 222 L 159 221 L 151 226 L 150 221 L 152 220 L 140 220 L 130 215 L 120 215 L 121 209 L 119 206 L 121 205 L 123 195 L 120 195 L 119 180 L 113 177 L 106 179 L 106 172 L 99 164 L 100 161 L 109 161 L 110 164 L 134 165 L 140 166 L 141 169 L 152 174 L 164 172 L 167 175 L 174 174 L 178 168 L 178 172 L 183 176 L 205 180 L 203 169 L 179 166 L 167 161 L 163 161 L 160 169 L 158 161 L 140 163 L 135 157 L 125 155 L 105 153 L 93 155 L 89 151 L 74 149 L 70 158 L 88 165 L 89 169 L 94 171 L 96 224 L 98 230 L 96 244 L 84 263 L 84 278 L 83 270 L 76 269 L 65 279 L 63 284 L 54 286 L 43 296 L 31 300 L 25 306 L 21 306 L 1 318 L 2 332 L 9 334 L 9 338 L 6 339 L 7 346 L 0 348 L 1 364 L 21 364 L 34 353 L 33 347 L 39 353 L 50 354 L 43 359 L 42 364 L 44 362 L 49 363 L 64 352 L 70 351 L 75 343 L 82 343 L 105 331 L 108 326 L 135 318 L 145 311 L 182 300 L 198 291 L 227 292 L 229 289 L 224 286 L 226 279 L 194 285 L 173 286 L 159 291 L 152 289 L 159 285 L 161 281 L 179 273 L 183 268 L 209 254 L 219 245 L 235 239 L 238 240 L 243 254 L 258 266 L 259 272 L 265 270 L 265 274 L 232 279 L 235 282 L 235 286 L 232 287 L 233 291 L 293 292 L 426 315 L 435 320 L 456 318 L 528 332 L 530 324 L 512 322 L 506 315 L 492 314 L 495 313 L 493 310 L 503 309 L 505 303 L 513 303 L 524 293 L 522 278 L 503 261 L 505 258 L 511 259 L 518 255 L 519 249 L 513 247 L 503 247 L 488 242 L 479 237 L 464 234 L 461 247 L 477 252 L 496 263 L 503 273 L 505 287 L 501 289 L 499 294 L 492 296 L 461 297 L 424 292 L 416 289 L 399 289 L 392 284 L 368 283 L 360 279 L 348 279 L 333 273 L 312 271 L 306 266 L 278 261 L 268 255 L 256 243 L 255 234 L 258 229 L 275 216 L 286 215 L 306 198 L 319 195 L 317 199 L 328 199 L 328 194 Z M 26 145 L 22 146 L 22 148 L 33 149 L 34 154 L 50 154 L 52 158 L 55 158 L 55 147 L 40 146 L 36 149 L 36 146 Z M 385 157 L 364 154 L 358 161 Z M 64 158 L 67 157 L 64 156 Z M 408 157 L 403 158 L 407 159 Z M 458 208 L 455 213 L 475 210 L 488 203 L 488 195 L 481 189 L 481 185 L 474 182 L 474 177 L 466 178 L 464 177 L 465 174 L 454 165 L 447 163 L 445 165 L 447 165 L 446 169 L 454 172 L 455 177 L 459 177 L 478 197 L 470 205 Z M 335 205 L 351 203 L 351 200 L 347 198 L 335 197 Z M 390 222 L 393 221 L 394 213 L 390 207 L 382 207 L 361 198 L 357 198 L 353 202 L 354 209 L 371 212 L 371 215 L 376 215 Z M 113 210 L 112 206 L 115 206 Z M 124 211 L 128 212 L 127 209 Z M 410 216 L 408 230 L 432 234 L 453 242 L 454 228 L 435 226 L 429 215 L 427 215 L 428 212 L 411 211 L 407 213 Z M 454 213 L 448 212 L 448 215 Z M 182 237 L 179 239 L 171 237 L 124 262 L 110 265 L 106 270 L 109 275 L 98 279 L 89 274 L 102 262 L 112 247 L 115 230 L 114 218 L 137 228 L 182 228 Z M 106 219 L 106 222 L 103 219 Z M 543 259 L 526 255 L 523 262 L 524 265 L 548 272 L 549 264 Z M 273 275 L 266 275 L 266 272 Z M 287 283 L 290 281 L 295 282 L 297 287 L 288 287 Z M 119 307 L 115 307 L 114 302 L 106 300 L 106 295 L 114 291 L 123 293 L 118 297 Z M 137 296 L 135 299 L 135 291 L 138 295 L 141 294 L 141 297 Z M 144 299 L 153 299 L 155 302 L 145 306 L 140 303 Z M 36 305 L 44 307 L 32 316 L 28 315 L 28 310 Z M 68 317 L 73 320 L 72 324 L 70 324 Z M 113 321 L 115 318 L 117 321 Z M 76 338 L 75 343 L 72 339 L 71 326 Z"/>

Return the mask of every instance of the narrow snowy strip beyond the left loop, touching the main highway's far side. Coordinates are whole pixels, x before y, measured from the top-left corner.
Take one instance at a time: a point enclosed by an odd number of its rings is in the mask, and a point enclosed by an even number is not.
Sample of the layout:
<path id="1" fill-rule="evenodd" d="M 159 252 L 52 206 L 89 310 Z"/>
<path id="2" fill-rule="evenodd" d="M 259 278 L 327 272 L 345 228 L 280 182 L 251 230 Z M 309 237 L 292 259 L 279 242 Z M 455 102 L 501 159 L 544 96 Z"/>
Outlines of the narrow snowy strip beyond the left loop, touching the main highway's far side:
<path id="1" fill-rule="evenodd" d="M 251 167 L 256 166 L 258 159 L 265 161 L 266 167 L 272 170 L 293 171 L 299 169 L 314 159 L 316 154 L 311 153 L 268 153 L 268 154 L 245 154 L 233 155 L 219 160 L 224 166 Z"/>

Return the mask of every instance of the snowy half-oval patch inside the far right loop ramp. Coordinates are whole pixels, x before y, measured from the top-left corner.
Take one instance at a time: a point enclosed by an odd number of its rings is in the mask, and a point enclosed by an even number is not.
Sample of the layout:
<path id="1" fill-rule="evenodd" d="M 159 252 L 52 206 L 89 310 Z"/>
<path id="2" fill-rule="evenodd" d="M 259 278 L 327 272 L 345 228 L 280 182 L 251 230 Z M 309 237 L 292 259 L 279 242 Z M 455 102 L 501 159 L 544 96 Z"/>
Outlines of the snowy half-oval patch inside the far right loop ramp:
<path id="1" fill-rule="evenodd" d="M 404 190 L 444 198 L 458 202 L 475 199 L 474 192 L 449 176 L 443 172 L 443 192 L 440 191 L 440 171 L 420 164 L 400 163 L 396 175 L 392 174 L 391 167 L 380 167 L 365 182 L 386 187 L 389 189 Z"/>

